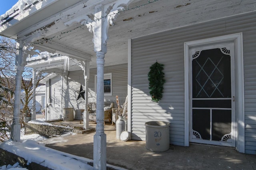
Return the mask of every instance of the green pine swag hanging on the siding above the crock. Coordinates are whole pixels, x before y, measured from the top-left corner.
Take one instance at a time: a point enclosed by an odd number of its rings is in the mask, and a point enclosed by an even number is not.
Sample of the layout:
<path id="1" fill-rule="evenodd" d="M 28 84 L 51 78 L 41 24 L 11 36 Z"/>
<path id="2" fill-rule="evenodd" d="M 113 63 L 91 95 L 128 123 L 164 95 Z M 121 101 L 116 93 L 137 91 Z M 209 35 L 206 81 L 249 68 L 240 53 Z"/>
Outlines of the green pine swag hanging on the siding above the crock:
<path id="1" fill-rule="evenodd" d="M 158 62 L 150 66 L 150 71 L 148 72 L 149 89 L 152 101 L 158 102 L 162 97 L 164 89 L 164 64 Z"/>

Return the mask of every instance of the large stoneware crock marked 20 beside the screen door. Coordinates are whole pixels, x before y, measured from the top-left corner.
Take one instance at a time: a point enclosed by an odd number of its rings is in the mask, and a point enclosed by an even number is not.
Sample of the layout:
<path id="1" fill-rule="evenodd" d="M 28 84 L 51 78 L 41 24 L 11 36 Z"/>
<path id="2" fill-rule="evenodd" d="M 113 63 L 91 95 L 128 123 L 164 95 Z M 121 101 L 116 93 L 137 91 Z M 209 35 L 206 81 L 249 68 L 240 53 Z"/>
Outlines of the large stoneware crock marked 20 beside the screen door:
<path id="1" fill-rule="evenodd" d="M 164 152 L 170 147 L 170 123 L 148 121 L 146 126 L 146 148 L 154 152 Z"/>

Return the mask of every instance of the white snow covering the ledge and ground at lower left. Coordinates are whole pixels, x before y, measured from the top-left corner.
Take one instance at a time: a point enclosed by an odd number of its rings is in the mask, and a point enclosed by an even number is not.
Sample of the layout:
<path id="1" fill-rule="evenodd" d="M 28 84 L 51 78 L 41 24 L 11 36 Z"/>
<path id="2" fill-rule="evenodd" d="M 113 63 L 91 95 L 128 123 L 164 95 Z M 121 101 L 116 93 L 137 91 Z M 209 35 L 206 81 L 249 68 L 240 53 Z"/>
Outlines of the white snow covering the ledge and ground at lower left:
<path id="1" fill-rule="evenodd" d="M 44 119 L 36 119 L 34 123 L 43 123 Z M 18 156 L 21 156 L 28 160 L 28 163 L 36 162 L 42 166 L 54 170 L 92 170 L 93 167 L 88 165 L 87 162 L 92 162 L 88 158 L 75 156 L 72 154 L 60 152 L 58 150 L 44 147 L 44 144 L 40 144 L 39 141 L 46 140 L 38 134 L 24 135 L 24 128 L 21 130 L 20 140 L 21 142 L 14 142 L 12 140 L 5 141 L 0 144 L 0 148 L 12 152 Z M 18 165 L 4 165 L 0 166 L 0 170 L 27 170 Z"/>

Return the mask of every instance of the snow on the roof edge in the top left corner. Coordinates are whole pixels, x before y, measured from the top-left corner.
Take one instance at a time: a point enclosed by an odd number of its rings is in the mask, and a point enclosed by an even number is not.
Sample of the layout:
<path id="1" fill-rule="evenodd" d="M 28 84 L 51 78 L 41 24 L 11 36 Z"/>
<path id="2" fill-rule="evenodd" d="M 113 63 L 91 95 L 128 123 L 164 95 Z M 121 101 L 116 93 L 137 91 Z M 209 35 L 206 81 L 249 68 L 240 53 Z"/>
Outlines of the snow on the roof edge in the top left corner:
<path id="1" fill-rule="evenodd" d="M 42 0 L 19 0 L 10 10 L 0 16 L 0 20 L 12 15 L 16 10 L 19 10 L 20 13 L 24 13 L 24 9 L 30 5 L 34 6 L 34 2 L 42 2 Z"/>

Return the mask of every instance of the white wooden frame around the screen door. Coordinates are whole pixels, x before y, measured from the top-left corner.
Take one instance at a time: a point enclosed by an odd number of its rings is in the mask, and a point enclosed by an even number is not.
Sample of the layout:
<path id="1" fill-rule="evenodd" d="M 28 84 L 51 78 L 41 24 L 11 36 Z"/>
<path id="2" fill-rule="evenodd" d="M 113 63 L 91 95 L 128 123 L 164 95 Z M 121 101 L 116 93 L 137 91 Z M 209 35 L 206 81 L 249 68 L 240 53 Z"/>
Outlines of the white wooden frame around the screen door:
<path id="1" fill-rule="evenodd" d="M 242 33 L 224 35 L 208 39 L 189 41 L 184 43 L 184 82 L 185 82 L 185 146 L 189 146 L 190 127 L 190 62 L 189 50 L 206 45 L 218 45 L 223 43 L 234 43 L 235 53 L 235 91 L 236 91 L 236 150 L 244 153 L 244 66 L 243 66 L 243 43 Z M 192 97 L 192 96 L 191 96 Z"/>

